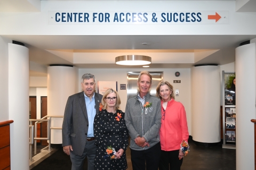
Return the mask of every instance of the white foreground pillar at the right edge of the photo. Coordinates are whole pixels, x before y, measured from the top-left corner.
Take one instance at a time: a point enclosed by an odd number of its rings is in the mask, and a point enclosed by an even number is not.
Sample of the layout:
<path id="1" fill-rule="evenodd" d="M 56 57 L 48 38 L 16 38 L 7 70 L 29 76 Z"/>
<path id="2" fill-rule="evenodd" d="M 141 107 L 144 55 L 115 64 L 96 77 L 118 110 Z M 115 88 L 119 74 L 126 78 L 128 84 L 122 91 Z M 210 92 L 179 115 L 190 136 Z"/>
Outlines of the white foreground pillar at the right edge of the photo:
<path id="1" fill-rule="evenodd" d="M 236 48 L 236 169 L 254 169 L 255 44 Z"/>

